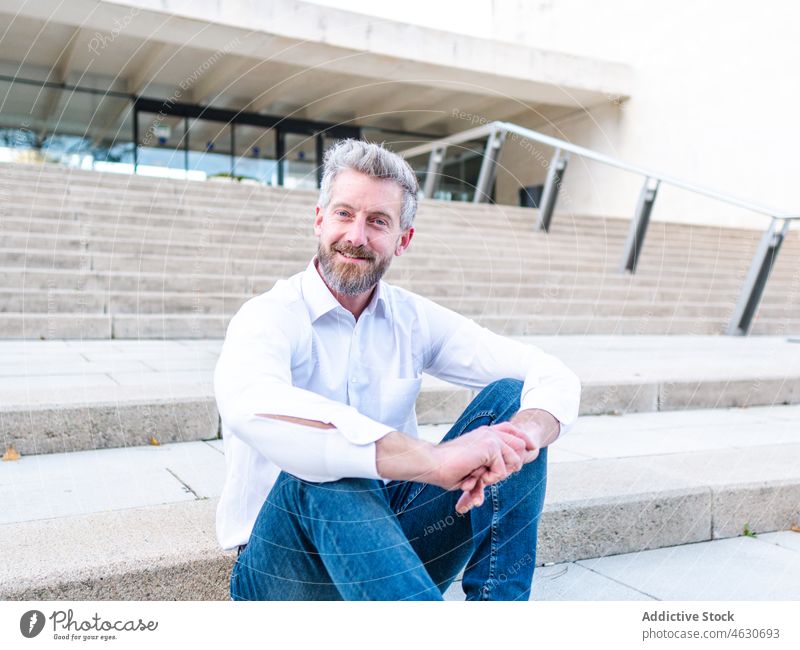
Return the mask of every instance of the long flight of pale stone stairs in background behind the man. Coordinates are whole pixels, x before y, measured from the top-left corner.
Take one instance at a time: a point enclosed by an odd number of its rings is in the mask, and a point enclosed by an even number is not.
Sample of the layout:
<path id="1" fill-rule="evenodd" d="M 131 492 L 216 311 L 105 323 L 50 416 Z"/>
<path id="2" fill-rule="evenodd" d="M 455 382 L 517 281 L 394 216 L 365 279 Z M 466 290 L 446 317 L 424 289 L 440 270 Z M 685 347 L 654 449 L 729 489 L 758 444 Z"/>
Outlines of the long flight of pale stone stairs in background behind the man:
<path id="1" fill-rule="evenodd" d="M 220 338 L 249 297 L 305 268 L 316 194 L 0 164 L 0 337 Z M 389 281 L 496 331 L 718 334 L 759 233 L 654 223 L 617 271 L 628 222 L 424 201 Z M 800 331 L 797 234 L 754 333 Z"/>

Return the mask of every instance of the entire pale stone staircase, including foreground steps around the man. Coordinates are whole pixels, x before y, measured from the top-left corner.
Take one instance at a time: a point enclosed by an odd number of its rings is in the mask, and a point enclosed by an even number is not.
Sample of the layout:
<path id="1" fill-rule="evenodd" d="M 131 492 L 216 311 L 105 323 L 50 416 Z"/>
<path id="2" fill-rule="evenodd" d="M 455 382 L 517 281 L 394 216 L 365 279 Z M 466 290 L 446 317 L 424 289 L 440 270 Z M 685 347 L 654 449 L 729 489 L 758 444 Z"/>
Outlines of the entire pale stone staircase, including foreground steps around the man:
<path id="1" fill-rule="evenodd" d="M 315 200 L 0 165 L 0 442 L 21 454 L 0 464 L 0 597 L 227 597 L 211 371 L 239 305 L 307 265 Z M 618 573 L 598 591 L 596 558 L 800 523 L 796 233 L 762 336 L 723 337 L 759 233 L 654 223 L 630 277 L 626 221 L 559 215 L 544 235 L 531 213 L 426 201 L 388 279 L 581 377 L 540 527 L 538 562 L 557 566 L 537 575 L 591 574 L 593 591 L 551 581 L 534 597 L 638 597 Z M 439 439 L 471 396 L 426 376 L 421 435 Z"/>

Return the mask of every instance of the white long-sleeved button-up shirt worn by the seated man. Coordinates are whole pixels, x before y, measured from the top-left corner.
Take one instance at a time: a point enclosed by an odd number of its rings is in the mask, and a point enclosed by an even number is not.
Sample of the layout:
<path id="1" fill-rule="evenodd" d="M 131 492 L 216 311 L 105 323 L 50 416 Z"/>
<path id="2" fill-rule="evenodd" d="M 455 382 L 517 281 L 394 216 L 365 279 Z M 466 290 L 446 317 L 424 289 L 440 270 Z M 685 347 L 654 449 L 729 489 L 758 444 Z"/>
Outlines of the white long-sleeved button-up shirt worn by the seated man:
<path id="1" fill-rule="evenodd" d="M 247 543 L 279 468 L 318 482 L 381 478 L 375 441 L 391 431 L 417 435 L 423 372 L 475 390 L 505 377 L 524 380 L 521 409 L 548 411 L 562 433 L 578 415 L 580 383 L 561 361 L 383 281 L 358 321 L 314 260 L 245 303 L 214 374 L 226 463 L 221 546 Z"/>

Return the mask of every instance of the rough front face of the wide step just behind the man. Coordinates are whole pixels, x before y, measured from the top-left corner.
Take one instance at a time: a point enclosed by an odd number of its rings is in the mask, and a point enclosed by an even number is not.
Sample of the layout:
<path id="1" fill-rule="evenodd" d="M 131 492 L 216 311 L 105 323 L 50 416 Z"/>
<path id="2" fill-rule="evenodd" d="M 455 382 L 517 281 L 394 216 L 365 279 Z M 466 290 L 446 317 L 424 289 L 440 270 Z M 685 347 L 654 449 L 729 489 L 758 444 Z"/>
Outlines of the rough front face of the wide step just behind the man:
<path id="1" fill-rule="evenodd" d="M 205 375 L 192 371 L 198 377 Z M 152 375 L 151 375 L 152 376 Z M 748 399 L 738 403 L 737 391 L 727 396 L 714 379 L 691 382 L 691 408 L 723 406 L 771 406 L 800 403 L 800 376 L 780 380 L 753 377 L 739 380 L 741 386 L 779 382 L 780 399 L 768 390 L 745 391 Z M 731 382 L 736 384 L 737 382 Z M 580 415 L 621 415 L 690 408 L 678 394 L 671 394 L 670 381 L 585 382 Z M 455 421 L 474 392 L 425 376 L 417 399 L 420 425 Z M 670 396 L 669 399 L 664 396 Z M 92 399 L 94 398 L 94 399 Z M 218 435 L 218 413 L 208 385 L 172 384 L 73 387 L 39 390 L 29 394 L 6 392 L 0 407 L 0 441 L 14 444 L 26 455 L 104 449 L 147 444 L 150 436 L 161 442 L 209 440 Z"/>

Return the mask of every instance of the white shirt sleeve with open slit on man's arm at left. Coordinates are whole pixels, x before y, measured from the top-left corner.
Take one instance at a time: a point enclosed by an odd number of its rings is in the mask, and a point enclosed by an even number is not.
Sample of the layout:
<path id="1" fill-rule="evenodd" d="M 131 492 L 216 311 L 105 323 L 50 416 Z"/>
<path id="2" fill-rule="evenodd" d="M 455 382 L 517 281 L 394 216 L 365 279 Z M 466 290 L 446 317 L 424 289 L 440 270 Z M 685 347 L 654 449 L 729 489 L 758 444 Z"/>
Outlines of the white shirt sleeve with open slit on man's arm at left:
<path id="1" fill-rule="evenodd" d="M 393 427 L 292 384 L 295 352 L 308 344 L 301 325 L 284 306 L 263 298 L 234 316 L 214 374 L 226 435 L 309 481 L 379 478 L 374 443 Z M 263 415 L 306 418 L 335 430 Z"/>

